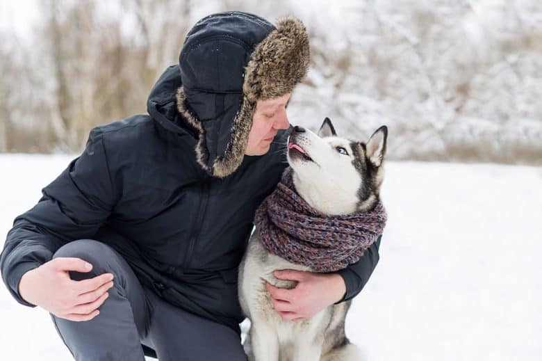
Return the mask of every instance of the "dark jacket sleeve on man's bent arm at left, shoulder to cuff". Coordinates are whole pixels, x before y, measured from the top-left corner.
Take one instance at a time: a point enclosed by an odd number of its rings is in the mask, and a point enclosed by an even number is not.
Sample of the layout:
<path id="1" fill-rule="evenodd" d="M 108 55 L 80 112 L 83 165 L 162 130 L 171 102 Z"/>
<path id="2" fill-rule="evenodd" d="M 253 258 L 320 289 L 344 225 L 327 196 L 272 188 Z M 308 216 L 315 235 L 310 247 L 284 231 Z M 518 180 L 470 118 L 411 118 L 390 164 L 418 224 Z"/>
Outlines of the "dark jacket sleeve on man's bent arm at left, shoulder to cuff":
<path id="1" fill-rule="evenodd" d="M 48 262 L 63 244 L 92 237 L 109 216 L 115 195 L 103 134 L 90 132 L 83 154 L 74 159 L 32 209 L 15 218 L 0 255 L 3 282 L 15 299 L 26 271 Z"/>

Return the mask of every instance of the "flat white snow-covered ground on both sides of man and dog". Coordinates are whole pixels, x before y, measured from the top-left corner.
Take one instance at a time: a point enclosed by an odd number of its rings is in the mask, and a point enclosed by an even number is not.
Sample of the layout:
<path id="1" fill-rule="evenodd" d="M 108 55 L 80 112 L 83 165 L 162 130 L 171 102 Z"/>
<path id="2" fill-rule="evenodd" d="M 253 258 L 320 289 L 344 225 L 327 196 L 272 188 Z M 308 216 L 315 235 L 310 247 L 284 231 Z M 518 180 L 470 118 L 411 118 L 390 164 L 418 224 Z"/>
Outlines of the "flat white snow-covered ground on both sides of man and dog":
<path id="1" fill-rule="evenodd" d="M 0 154 L 2 238 L 70 159 Z M 368 359 L 542 360 L 542 168 L 388 163 L 382 193 L 380 263 L 347 319 Z M 0 318 L 1 360 L 71 360 L 5 287 Z"/>

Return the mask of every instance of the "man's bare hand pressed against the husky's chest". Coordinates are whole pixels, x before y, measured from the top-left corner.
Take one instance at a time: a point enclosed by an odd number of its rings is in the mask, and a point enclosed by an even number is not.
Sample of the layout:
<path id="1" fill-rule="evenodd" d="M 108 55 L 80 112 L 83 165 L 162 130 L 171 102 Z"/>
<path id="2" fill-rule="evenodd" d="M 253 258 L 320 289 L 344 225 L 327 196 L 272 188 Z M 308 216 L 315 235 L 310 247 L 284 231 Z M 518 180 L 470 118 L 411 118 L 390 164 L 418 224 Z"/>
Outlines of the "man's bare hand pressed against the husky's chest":
<path id="1" fill-rule="evenodd" d="M 273 307 L 282 319 L 300 321 L 312 316 L 345 296 L 346 286 L 338 273 L 313 273 L 303 271 L 274 271 L 279 280 L 297 282 L 293 289 L 281 289 L 267 282 Z"/>

